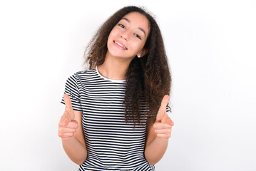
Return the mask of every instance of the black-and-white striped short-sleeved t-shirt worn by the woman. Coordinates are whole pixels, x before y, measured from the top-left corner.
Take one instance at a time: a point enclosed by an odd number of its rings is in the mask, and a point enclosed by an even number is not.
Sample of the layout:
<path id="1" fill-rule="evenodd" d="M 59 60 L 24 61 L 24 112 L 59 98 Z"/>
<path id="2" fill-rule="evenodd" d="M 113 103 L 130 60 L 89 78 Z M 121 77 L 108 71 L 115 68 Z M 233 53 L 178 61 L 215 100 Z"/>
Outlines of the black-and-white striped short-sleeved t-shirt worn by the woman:
<path id="1" fill-rule="evenodd" d="M 79 170 L 155 170 L 144 157 L 147 118 L 135 128 L 125 122 L 125 89 L 125 80 L 104 78 L 97 68 L 74 73 L 66 81 L 64 93 L 73 110 L 83 113 L 88 157 Z M 141 108 L 145 111 L 145 103 Z"/>

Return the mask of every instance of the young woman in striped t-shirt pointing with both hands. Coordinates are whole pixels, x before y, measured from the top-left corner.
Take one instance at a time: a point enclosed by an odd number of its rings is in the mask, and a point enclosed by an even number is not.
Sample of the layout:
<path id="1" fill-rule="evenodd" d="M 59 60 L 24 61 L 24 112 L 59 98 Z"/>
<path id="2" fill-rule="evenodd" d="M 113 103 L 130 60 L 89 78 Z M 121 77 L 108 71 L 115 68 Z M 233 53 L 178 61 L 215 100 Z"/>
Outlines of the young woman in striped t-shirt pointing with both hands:
<path id="1" fill-rule="evenodd" d="M 126 6 L 86 49 L 86 71 L 66 81 L 58 125 L 63 148 L 79 170 L 155 170 L 173 121 L 163 38 L 150 14 Z"/>

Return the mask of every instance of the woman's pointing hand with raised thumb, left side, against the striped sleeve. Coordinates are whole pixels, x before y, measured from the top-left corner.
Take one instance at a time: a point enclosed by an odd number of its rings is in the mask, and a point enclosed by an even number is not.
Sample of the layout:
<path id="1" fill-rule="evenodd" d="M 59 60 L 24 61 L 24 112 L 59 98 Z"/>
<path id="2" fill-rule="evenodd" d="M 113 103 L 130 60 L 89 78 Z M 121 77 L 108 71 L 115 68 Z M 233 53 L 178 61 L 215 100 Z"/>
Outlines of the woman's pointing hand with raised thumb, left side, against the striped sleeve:
<path id="1" fill-rule="evenodd" d="M 78 128 L 78 123 L 75 120 L 75 114 L 71 105 L 71 100 L 67 94 L 63 95 L 66 107 L 65 112 L 61 116 L 58 123 L 58 136 L 60 138 L 71 138 Z"/>

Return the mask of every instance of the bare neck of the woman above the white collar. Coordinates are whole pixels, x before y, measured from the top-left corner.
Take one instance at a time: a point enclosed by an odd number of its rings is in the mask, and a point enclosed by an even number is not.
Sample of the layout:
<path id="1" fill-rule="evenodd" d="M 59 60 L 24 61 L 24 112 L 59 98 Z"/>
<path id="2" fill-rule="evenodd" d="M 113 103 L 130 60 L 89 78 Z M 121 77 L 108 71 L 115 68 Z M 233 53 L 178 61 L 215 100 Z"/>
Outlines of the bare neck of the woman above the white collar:
<path id="1" fill-rule="evenodd" d="M 126 80 L 126 72 L 131 60 L 130 58 L 117 58 L 107 52 L 104 63 L 98 66 L 98 72 L 108 79 Z"/>

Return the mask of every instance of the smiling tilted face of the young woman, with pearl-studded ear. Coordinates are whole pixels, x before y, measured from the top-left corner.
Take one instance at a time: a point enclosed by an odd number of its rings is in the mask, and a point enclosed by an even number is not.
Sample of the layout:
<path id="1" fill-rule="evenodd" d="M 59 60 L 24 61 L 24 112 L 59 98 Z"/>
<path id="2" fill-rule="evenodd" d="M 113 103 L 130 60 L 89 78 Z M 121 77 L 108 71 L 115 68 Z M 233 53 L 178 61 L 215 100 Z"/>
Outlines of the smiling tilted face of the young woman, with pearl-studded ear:
<path id="1" fill-rule="evenodd" d="M 144 56 L 143 49 L 150 31 L 148 19 L 138 12 L 123 16 L 108 36 L 108 52 L 111 56 L 133 59 Z"/>

